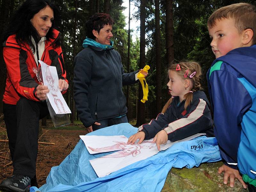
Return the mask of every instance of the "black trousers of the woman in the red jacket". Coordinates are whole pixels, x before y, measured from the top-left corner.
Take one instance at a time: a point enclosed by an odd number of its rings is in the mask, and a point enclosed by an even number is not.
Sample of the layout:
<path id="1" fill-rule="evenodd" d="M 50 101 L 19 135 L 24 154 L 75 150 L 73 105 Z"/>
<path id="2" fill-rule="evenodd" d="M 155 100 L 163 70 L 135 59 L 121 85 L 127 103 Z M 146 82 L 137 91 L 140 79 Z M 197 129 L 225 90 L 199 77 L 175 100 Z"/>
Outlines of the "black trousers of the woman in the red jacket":
<path id="1" fill-rule="evenodd" d="M 39 119 L 49 111 L 46 102 L 21 97 L 16 105 L 3 103 L 13 174 L 36 175 Z"/>

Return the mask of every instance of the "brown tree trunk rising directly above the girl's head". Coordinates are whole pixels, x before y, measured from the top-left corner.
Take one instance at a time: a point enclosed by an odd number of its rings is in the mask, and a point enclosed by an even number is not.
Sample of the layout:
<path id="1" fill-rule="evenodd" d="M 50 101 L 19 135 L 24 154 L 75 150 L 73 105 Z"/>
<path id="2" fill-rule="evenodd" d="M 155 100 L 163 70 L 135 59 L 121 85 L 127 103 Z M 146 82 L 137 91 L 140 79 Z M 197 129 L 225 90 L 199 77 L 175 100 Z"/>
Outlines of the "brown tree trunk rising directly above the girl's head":
<path id="1" fill-rule="evenodd" d="M 167 65 L 171 64 L 174 60 L 173 52 L 173 19 L 172 19 L 172 0 L 165 1 L 166 4 L 166 25 L 165 25 L 165 35 L 166 35 L 166 61 Z"/>

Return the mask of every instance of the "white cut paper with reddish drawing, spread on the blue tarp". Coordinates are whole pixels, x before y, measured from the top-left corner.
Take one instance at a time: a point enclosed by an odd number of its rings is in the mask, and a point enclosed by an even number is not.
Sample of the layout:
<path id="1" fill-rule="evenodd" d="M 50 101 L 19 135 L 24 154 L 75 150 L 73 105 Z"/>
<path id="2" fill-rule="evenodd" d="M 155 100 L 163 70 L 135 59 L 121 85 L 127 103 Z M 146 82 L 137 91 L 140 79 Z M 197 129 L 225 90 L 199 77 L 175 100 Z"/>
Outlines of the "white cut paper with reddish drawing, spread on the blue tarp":
<path id="1" fill-rule="evenodd" d="M 194 139 L 204 135 L 198 133 L 180 141 L 170 142 L 161 145 L 160 149 L 165 150 L 171 147 L 174 143 Z M 144 140 L 138 144 L 138 141 L 133 145 L 127 144 L 128 138 L 125 136 L 80 136 L 84 141 L 86 148 L 89 148 L 89 153 L 103 153 L 116 151 L 112 154 L 102 156 L 100 158 L 90 160 L 90 163 L 98 175 L 104 177 L 112 172 L 133 164 L 137 161 L 144 160 L 150 156 L 156 155 L 159 151 L 155 143 L 151 140 Z"/>

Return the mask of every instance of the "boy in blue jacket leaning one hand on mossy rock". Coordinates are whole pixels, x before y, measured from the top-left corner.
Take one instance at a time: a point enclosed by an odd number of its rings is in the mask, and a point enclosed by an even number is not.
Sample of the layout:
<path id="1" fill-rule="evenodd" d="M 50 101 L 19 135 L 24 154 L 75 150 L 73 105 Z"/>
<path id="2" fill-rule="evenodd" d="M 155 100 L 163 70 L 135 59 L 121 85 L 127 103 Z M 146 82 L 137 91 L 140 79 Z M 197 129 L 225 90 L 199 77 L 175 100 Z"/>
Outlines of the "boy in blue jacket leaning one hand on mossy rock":
<path id="1" fill-rule="evenodd" d="M 256 191 L 256 7 L 222 7 L 208 20 L 216 60 L 207 72 L 224 184 Z M 239 171 L 238 171 L 238 170 Z M 240 173 L 239 173 L 240 172 Z M 241 175 L 242 176 L 241 176 Z"/>

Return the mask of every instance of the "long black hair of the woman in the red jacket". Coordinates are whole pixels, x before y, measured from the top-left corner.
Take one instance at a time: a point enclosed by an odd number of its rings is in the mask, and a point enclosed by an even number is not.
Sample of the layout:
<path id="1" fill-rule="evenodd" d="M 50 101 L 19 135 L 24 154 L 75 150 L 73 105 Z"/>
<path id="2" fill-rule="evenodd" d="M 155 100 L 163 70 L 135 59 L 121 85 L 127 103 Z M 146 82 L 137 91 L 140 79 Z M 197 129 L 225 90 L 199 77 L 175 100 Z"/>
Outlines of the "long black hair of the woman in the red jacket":
<path id="1" fill-rule="evenodd" d="M 35 52 L 35 46 L 31 41 L 31 36 L 35 39 L 35 42 L 40 40 L 40 36 L 30 20 L 47 5 L 52 8 L 54 16 L 57 16 L 58 10 L 48 0 L 26 0 L 13 14 L 9 26 L 4 33 L 3 40 L 5 41 L 9 36 L 16 34 L 15 40 L 18 44 L 27 43 L 32 48 L 32 51 Z M 54 38 L 54 20 L 52 21 L 52 27 L 45 36 L 47 40 L 49 40 L 49 38 Z M 60 38 L 56 41 L 55 46 L 60 46 Z"/>

